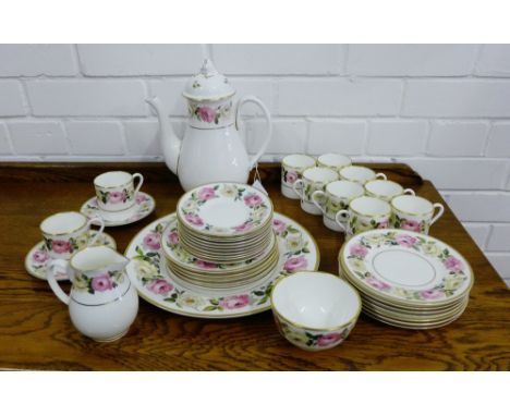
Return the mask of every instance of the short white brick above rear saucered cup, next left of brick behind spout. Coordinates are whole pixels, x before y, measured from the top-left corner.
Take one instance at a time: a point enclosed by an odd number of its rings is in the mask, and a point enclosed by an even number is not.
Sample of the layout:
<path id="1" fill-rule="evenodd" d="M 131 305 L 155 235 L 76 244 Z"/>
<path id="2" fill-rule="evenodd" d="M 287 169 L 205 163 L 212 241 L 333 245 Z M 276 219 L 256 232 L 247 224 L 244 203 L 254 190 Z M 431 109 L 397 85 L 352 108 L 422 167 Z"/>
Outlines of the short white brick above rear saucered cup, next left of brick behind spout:
<path id="1" fill-rule="evenodd" d="M 73 155 L 123 155 L 122 130 L 114 121 L 71 121 L 66 123 Z"/>

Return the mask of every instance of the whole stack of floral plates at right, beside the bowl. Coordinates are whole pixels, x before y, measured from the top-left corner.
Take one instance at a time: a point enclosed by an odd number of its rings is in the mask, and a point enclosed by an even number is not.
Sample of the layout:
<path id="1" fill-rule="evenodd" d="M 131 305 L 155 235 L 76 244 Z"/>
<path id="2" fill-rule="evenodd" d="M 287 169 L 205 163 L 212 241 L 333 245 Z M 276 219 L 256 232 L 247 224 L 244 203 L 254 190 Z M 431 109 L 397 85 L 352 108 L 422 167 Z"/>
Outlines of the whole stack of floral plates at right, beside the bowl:
<path id="1" fill-rule="evenodd" d="M 408 329 L 453 322 L 465 310 L 474 281 L 459 252 L 406 230 L 354 235 L 340 250 L 339 268 L 360 291 L 364 314 Z"/>

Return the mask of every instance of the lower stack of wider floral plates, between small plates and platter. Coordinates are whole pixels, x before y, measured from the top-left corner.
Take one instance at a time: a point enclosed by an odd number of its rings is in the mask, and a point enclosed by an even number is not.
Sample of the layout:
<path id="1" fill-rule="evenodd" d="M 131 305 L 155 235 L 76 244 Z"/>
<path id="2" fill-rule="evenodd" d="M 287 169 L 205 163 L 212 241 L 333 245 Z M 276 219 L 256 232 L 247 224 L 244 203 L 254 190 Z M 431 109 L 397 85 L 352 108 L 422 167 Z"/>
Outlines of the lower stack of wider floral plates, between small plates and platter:
<path id="1" fill-rule="evenodd" d="M 183 282 L 206 289 L 233 289 L 251 284 L 267 276 L 279 260 L 278 242 L 271 231 L 271 241 L 265 250 L 241 262 L 214 262 L 191 255 L 181 244 L 175 217 L 161 235 L 167 267 Z"/>

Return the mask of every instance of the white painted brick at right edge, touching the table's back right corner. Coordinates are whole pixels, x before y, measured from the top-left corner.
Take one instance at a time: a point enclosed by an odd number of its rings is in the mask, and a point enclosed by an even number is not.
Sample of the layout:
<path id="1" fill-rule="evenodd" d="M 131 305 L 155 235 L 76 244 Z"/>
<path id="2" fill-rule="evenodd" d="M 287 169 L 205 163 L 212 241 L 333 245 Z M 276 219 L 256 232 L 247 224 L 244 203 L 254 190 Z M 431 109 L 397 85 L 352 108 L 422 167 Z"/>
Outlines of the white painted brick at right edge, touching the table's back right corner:
<path id="1" fill-rule="evenodd" d="M 409 163 L 439 189 L 501 189 L 506 160 L 413 159 Z"/>

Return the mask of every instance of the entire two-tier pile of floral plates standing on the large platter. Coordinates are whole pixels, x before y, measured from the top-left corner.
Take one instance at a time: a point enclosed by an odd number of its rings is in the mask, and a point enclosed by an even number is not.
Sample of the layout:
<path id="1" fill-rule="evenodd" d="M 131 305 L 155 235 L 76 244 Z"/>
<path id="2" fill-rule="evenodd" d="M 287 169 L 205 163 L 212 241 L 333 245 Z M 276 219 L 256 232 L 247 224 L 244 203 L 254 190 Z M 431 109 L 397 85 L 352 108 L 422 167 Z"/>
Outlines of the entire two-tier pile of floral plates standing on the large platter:
<path id="1" fill-rule="evenodd" d="M 279 261 L 272 205 L 252 186 L 215 183 L 186 193 L 161 242 L 183 283 L 234 289 L 266 277 Z"/>

